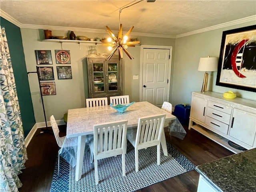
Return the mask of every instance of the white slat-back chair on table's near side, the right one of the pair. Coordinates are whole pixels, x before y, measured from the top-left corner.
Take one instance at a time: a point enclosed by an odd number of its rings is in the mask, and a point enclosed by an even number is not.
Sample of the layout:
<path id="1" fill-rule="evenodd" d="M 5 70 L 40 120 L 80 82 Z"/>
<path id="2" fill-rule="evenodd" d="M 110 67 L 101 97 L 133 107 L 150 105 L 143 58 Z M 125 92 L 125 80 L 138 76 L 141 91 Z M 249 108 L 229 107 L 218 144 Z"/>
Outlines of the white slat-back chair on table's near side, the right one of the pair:
<path id="1" fill-rule="evenodd" d="M 127 140 L 134 146 L 135 171 L 139 171 L 138 150 L 157 146 L 157 164 L 160 165 L 160 142 L 166 114 L 139 118 L 138 128 L 129 129 Z"/>

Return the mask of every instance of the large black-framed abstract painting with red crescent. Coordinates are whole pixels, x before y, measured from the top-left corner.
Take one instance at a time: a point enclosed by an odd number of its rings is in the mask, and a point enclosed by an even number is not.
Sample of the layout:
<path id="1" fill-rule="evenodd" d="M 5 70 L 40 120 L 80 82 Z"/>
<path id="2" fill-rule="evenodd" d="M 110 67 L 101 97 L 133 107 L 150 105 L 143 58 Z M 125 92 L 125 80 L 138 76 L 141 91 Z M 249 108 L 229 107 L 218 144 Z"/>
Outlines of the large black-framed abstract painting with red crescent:
<path id="1" fill-rule="evenodd" d="M 256 25 L 222 33 L 216 85 L 256 92 Z"/>

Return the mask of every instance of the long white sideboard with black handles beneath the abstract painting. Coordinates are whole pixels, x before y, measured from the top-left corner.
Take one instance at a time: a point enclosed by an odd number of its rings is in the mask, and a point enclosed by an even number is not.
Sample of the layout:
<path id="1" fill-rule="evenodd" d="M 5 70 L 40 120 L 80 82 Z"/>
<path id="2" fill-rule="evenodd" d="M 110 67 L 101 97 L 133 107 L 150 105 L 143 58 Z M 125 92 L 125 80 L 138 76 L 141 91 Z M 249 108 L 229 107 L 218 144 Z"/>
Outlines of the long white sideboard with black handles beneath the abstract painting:
<path id="1" fill-rule="evenodd" d="M 192 92 L 189 129 L 194 129 L 228 148 L 232 141 L 246 149 L 256 147 L 256 101 L 226 99 L 215 92 Z"/>

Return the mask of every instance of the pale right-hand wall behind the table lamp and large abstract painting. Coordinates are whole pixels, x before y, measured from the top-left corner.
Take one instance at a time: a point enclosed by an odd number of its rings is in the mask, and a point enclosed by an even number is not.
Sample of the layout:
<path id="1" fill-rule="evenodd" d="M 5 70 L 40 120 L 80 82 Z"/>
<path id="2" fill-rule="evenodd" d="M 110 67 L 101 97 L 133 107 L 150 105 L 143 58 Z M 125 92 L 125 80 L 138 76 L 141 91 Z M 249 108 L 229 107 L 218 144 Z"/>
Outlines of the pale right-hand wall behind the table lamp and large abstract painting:
<path id="1" fill-rule="evenodd" d="M 230 29 L 254 25 L 255 22 L 247 22 L 235 26 L 194 34 L 176 39 L 173 82 L 172 105 L 191 104 L 191 92 L 200 91 L 204 78 L 204 72 L 198 71 L 200 57 L 219 57 L 222 32 Z M 238 97 L 256 100 L 256 93 L 228 87 L 216 86 L 217 72 L 209 73 L 208 90 L 224 93 L 231 90 Z"/>

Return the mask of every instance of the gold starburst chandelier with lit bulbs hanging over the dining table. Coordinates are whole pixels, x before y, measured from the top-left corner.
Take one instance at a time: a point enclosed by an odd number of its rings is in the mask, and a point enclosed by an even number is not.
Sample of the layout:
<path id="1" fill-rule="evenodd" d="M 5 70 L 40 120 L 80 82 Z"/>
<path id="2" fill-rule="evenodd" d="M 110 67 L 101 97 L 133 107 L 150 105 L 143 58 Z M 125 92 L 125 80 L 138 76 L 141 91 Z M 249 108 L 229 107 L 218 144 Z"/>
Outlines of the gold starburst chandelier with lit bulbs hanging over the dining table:
<path id="1" fill-rule="evenodd" d="M 143 0 L 140 0 L 134 4 L 137 4 L 139 2 L 142 2 Z M 150 1 L 147 1 L 147 2 L 150 2 Z M 154 2 L 154 1 L 152 1 Z M 134 4 L 131 4 L 129 6 L 126 6 L 124 8 L 128 8 Z M 130 59 L 134 59 L 132 57 L 132 55 L 128 52 L 127 48 L 128 47 L 135 47 L 134 44 L 139 44 L 140 41 L 127 41 L 128 40 L 128 35 L 132 32 L 134 26 L 132 26 L 130 28 L 130 30 L 124 35 L 122 36 L 122 24 L 120 24 L 120 14 L 122 12 L 122 10 L 124 8 L 120 8 L 119 10 L 119 32 L 118 32 L 118 36 L 116 37 L 114 35 L 114 33 L 110 30 L 110 28 L 108 26 L 106 26 L 107 30 L 106 32 L 108 34 L 110 34 L 111 38 L 108 38 L 107 40 L 103 40 L 102 41 L 102 45 L 104 46 L 108 46 L 108 50 L 112 50 L 114 48 L 114 50 L 110 53 L 110 55 L 107 57 L 108 60 L 110 60 L 110 58 L 115 54 L 115 52 L 118 50 L 119 52 L 119 60 L 120 58 L 123 58 L 123 51 L 127 54 L 127 56 L 130 58 Z"/>

